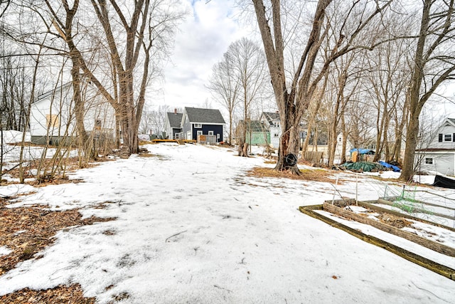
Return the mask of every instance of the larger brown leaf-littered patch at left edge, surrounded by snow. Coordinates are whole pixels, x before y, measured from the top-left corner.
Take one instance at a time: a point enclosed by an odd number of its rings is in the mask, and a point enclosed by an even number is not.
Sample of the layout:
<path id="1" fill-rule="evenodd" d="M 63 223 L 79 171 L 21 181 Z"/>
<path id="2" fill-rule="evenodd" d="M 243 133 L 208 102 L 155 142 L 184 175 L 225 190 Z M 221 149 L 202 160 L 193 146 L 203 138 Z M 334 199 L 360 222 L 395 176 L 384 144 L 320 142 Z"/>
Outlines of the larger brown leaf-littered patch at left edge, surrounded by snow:
<path id="1" fill-rule="evenodd" d="M 11 252 L 0 256 L 0 276 L 11 270 L 17 263 L 38 258 L 36 253 L 53 243 L 57 231 L 69 226 L 85 226 L 100 221 L 112 221 L 92 216 L 82 219 L 78 209 L 50 211 L 47 206 L 34 205 L 6 208 L 6 201 L 0 205 L 0 246 Z"/>

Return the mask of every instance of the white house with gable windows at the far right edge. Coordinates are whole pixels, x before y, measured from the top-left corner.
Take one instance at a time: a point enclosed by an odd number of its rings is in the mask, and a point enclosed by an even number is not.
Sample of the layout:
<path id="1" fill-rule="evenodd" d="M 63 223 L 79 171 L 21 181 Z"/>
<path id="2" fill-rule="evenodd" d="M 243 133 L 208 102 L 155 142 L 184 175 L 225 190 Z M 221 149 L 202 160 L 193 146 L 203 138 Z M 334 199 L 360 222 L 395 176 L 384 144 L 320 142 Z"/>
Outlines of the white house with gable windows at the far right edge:
<path id="1" fill-rule="evenodd" d="M 417 170 L 455 175 L 455 119 L 446 118 L 425 149 L 415 152 Z"/>

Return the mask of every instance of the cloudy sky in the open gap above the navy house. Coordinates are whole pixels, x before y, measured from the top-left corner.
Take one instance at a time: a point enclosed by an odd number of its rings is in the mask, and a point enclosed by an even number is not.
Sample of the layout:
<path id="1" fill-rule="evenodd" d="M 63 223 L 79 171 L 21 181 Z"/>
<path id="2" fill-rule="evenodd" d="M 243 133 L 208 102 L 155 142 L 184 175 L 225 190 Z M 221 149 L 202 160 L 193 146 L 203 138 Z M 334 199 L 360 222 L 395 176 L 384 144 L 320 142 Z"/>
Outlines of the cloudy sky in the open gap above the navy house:
<path id="1" fill-rule="evenodd" d="M 213 64 L 220 61 L 230 43 L 251 36 L 252 27 L 237 21 L 238 9 L 232 0 L 182 0 L 190 14 L 176 35 L 171 62 L 165 67 L 164 98 L 152 100 L 153 106 L 166 104 L 169 108 L 199 108 L 208 99 L 213 102 L 204 85 L 212 73 Z"/>

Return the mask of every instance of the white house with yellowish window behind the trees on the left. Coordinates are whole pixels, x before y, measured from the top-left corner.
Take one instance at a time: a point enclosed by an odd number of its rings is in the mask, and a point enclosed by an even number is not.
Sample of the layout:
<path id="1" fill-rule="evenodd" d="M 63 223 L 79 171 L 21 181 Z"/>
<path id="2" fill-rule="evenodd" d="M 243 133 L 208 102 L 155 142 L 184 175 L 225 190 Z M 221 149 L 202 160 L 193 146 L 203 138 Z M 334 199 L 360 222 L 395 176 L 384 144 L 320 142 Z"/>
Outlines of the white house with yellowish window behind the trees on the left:
<path id="1" fill-rule="evenodd" d="M 81 98 L 84 100 L 84 126 L 90 135 L 114 137 L 114 108 L 99 93 L 95 85 L 83 82 Z M 56 145 L 68 143 L 76 135 L 73 100 L 73 83 L 66 83 L 39 96 L 31 105 L 31 142 Z"/>

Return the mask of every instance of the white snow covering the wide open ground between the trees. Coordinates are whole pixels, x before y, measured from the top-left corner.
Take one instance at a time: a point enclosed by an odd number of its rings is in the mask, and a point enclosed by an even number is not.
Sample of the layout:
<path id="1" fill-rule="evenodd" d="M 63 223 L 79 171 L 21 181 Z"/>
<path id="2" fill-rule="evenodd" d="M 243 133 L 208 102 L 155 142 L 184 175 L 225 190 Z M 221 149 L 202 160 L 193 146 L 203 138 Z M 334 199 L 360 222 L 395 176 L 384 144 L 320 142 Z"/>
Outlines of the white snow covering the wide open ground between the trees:
<path id="1" fill-rule="evenodd" d="M 145 147 L 156 157 L 103 162 L 70 175 L 84 182 L 16 200 L 116 219 L 58 232 L 42 258 L 0 277 L 0 295 L 80 283 L 97 303 L 121 293 L 129 295 L 122 303 L 454 302 L 455 281 L 298 210 L 355 197 L 356 179 L 360 200 L 402 186 L 347 172 L 333 173 L 333 183 L 250 177 L 252 167 L 273 164 L 220 147 Z M 31 192 L 15 187 L 0 195 Z M 454 261 L 428 249 L 426 256 Z"/>

